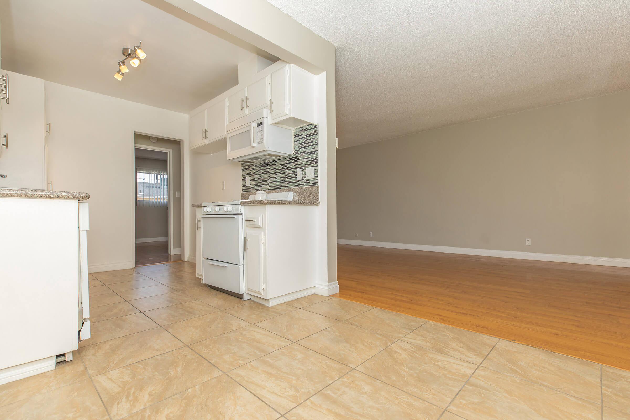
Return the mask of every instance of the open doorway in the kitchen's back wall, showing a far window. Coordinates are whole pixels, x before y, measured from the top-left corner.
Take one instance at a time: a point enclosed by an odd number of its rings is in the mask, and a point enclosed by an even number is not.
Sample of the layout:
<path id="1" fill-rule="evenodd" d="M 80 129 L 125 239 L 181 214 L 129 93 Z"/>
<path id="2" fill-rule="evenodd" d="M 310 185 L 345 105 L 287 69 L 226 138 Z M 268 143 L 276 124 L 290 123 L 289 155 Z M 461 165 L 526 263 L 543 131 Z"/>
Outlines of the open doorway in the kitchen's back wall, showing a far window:
<path id="1" fill-rule="evenodd" d="M 180 156 L 176 140 L 135 135 L 136 266 L 181 261 Z"/>

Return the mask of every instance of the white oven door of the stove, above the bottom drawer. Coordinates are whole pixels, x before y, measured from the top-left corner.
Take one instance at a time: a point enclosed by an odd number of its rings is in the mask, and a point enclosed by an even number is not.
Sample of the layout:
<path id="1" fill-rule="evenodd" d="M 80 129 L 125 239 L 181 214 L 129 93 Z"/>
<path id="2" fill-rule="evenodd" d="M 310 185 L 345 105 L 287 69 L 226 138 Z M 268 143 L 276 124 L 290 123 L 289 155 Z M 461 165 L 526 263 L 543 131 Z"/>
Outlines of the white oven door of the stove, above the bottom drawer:
<path id="1" fill-rule="evenodd" d="M 243 265 L 242 214 L 202 216 L 201 225 L 203 258 Z"/>

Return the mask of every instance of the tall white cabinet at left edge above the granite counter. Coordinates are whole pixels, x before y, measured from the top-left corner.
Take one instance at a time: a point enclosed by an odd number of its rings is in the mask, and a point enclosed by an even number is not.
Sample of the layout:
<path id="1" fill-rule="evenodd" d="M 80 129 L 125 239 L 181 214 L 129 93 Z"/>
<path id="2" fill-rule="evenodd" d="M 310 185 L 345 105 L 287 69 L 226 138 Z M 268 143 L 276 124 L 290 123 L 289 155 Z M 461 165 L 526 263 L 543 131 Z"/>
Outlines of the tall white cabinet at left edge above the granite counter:
<path id="1" fill-rule="evenodd" d="M 2 71 L 9 75 L 10 101 L 0 103 L 0 187 L 45 186 L 45 93 L 42 79 Z"/>

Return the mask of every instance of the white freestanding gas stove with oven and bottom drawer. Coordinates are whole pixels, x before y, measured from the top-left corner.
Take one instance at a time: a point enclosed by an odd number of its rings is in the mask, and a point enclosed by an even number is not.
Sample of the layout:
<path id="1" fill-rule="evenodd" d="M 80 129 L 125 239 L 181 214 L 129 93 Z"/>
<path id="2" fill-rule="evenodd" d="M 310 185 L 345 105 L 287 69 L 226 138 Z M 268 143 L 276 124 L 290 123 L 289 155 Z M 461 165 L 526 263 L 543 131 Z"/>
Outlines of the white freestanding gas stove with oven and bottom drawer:
<path id="1" fill-rule="evenodd" d="M 203 203 L 203 283 L 236 297 L 245 293 L 245 236 L 241 201 Z"/>

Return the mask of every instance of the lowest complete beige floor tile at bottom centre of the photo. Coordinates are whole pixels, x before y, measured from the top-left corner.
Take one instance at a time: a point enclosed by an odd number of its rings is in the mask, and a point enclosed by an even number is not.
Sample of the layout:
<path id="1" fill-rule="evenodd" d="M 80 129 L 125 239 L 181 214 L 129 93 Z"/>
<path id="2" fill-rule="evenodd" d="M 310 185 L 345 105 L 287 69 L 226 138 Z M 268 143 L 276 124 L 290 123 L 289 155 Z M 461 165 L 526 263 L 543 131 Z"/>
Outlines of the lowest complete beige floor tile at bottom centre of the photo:
<path id="1" fill-rule="evenodd" d="M 228 374 L 278 412 L 285 413 L 349 370 L 348 366 L 291 344 Z"/>

